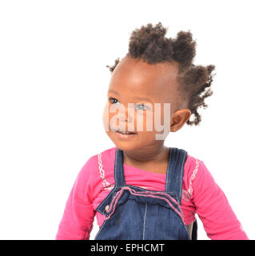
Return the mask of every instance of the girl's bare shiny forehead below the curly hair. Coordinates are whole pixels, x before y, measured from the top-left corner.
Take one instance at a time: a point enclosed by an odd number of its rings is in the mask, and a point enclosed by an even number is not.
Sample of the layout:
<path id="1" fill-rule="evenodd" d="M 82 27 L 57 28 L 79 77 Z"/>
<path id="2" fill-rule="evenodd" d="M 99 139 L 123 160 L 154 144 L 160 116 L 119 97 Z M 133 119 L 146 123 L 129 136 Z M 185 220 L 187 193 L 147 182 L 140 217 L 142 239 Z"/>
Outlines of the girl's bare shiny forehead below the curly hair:
<path id="1" fill-rule="evenodd" d="M 122 58 L 110 79 L 109 92 L 114 90 L 123 97 L 140 96 L 154 102 L 173 101 L 177 94 L 177 72 L 177 62 L 148 64 Z"/>

